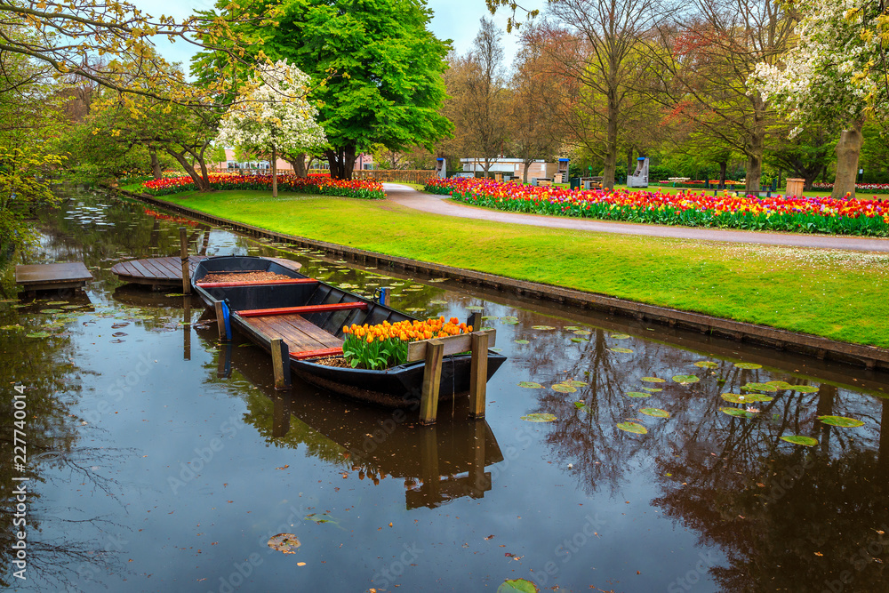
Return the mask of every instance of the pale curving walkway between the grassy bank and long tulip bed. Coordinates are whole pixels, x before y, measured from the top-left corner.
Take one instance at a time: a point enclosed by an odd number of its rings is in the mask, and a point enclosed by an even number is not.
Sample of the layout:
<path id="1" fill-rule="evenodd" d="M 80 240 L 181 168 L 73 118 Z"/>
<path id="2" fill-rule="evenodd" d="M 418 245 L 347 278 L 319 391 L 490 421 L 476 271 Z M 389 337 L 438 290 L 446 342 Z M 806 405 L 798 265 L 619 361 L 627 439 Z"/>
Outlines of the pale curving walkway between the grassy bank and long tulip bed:
<path id="1" fill-rule="evenodd" d="M 416 189 L 398 183 L 383 183 L 388 198 L 414 210 L 445 214 L 458 218 L 511 222 L 533 227 L 570 228 L 590 230 L 599 233 L 621 235 L 661 236 L 699 241 L 725 241 L 728 243 L 749 243 L 765 245 L 785 245 L 791 247 L 818 247 L 821 249 L 846 249 L 861 252 L 889 253 L 889 239 L 865 238 L 860 236 L 834 235 L 795 235 L 792 233 L 765 233 L 749 230 L 724 230 L 720 228 L 667 227 L 661 225 L 637 224 L 631 222 L 611 222 L 540 214 L 520 214 L 502 212 L 475 206 L 456 204 L 445 196 L 424 194 Z"/>

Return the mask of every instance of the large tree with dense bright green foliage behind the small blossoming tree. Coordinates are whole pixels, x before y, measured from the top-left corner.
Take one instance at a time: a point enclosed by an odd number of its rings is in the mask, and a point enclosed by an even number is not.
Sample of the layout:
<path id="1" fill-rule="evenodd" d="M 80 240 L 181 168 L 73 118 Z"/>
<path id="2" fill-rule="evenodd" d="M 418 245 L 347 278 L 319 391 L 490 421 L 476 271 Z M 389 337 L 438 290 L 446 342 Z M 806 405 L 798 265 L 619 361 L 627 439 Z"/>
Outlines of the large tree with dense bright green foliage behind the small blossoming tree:
<path id="1" fill-rule="evenodd" d="M 324 156 L 333 177 L 350 179 L 356 155 L 372 145 L 431 148 L 450 133 L 439 113 L 448 44 L 428 31 L 425 2 L 260 0 L 218 8 L 227 20 L 270 15 L 267 26 L 238 33 L 258 60 L 286 60 L 312 77 L 309 98 L 331 144 Z M 218 54 L 205 53 L 195 71 L 219 65 Z"/>

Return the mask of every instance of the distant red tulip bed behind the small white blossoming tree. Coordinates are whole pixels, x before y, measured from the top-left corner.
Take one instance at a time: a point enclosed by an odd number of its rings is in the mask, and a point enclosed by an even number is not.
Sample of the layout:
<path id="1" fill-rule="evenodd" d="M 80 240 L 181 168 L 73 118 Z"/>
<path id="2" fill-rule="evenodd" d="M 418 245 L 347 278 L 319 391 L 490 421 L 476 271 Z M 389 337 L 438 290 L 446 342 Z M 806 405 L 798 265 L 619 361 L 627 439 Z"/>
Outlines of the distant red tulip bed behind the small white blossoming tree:
<path id="1" fill-rule="evenodd" d="M 370 200 L 386 197 L 383 186 L 376 180 L 334 180 L 328 175 L 312 174 L 308 177 L 278 175 L 278 190 L 300 194 L 320 194 L 322 196 L 346 196 Z M 233 173 L 210 173 L 210 187 L 213 189 L 263 189 L 271 191 L 271 175 L 236 175 Z M 150 180 L 142 184 L 146 193 L 152 196 L 168 196 L 183 191 L 194 191 L 195 182 L 190 177 Z"/>

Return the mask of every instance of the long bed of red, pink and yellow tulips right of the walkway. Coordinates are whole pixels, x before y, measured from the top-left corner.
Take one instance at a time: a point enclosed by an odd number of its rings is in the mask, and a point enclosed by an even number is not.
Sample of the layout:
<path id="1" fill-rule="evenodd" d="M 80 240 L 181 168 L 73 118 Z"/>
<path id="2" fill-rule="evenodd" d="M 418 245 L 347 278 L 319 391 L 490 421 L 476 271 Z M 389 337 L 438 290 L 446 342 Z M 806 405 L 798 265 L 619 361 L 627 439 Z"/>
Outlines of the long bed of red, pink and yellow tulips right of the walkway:
<path id="1" fill-rule="evenodd" d="M 481 179 L 428 180 L 426 191 L 466 204 L 602 220 L 685 227 L 743 228 L 838 235 L 889 235 L 889 204 L 829 197 L 738 197 L 725 191 L 608 192 L 600 189 L 533 188 Z"/>

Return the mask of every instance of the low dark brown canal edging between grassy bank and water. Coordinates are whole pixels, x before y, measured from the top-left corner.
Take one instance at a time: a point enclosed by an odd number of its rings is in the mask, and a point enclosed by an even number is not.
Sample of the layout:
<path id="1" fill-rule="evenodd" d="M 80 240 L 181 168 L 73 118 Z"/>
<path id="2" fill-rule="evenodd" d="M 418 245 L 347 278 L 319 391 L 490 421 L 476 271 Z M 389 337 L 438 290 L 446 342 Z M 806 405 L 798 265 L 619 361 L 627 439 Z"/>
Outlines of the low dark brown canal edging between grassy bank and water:
<path id="1" fill-rule="evenodd" d="M 242 222 L 237 222 L 236 220 L 228 220 L 205 212 L 199 212 L 186 206 L 158 199 L 155 196 L 149 196 L 148 194 L 136 194 L 120 188 L 108 189 L 124 196 L 140 200 L 141 202 L 154 204 L 172 212 L 185 214 L 189 218 L 203 220 L 204 222 L 209 222 L 219 227 L 230 228 L 231 230 L 235 230 L 244 235 L 266 237 L 279 242 L 283 241 L 291 244 L 298 244 L 302 247 L 321 249 L 324 250 L 324 252 L 339 255 L 343 258 L 348 257 L 355 262 L 361 262 L 363 265 L 379 267 L 380 264 L 388 264 L 395 266 L 396 268 L 403 268 L 404 270 L 414 270 L 432 276 L 448 277 L 458 283 L 477 284 L 499 291 L 515 292 L 518 295 L 534 299 L 556 301 L 558 303 L 565 303 L 582 309 L 597 309 L 612 315 L 618 314 L 626 317 L 635 317 L 637 320 L 645 319 L 655 323 L 669 325 L 670 327 L 678 326 L 701 333 L 721 335 L 732 338 L 733 340 L 749 341 L 775 349 L 786 349 L 817 357 L 819 359 L 827 358 L 846 364 L 864 366 L 867 369 L 889 370 L 889 349 L 829 340 L 828 338 L 822 338 L 821 336 L 808 333 L 789 332 L 768 325 L 749 324 L 701 313 L 690 313 L 680 309 L 647 305 L 641 302 L 617 299 L 602 294 L 596 294 L 594 292 L 583 292 L 571 288 L 563 288 L 553 284 L 526 282 L 525 280 L 516 280 L 507 276 L 497 276 L 496 274 L 475 272 L 469 269 L 453 268 L 452 266 L 411 260 L 408 258 L 386 255 L 384 253 L 368 252 L 363 249 L 327 243 L 325 241 L 317 241 L 303 236 L 276 233 L 265 228 L 254 227 Z"/>

